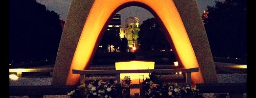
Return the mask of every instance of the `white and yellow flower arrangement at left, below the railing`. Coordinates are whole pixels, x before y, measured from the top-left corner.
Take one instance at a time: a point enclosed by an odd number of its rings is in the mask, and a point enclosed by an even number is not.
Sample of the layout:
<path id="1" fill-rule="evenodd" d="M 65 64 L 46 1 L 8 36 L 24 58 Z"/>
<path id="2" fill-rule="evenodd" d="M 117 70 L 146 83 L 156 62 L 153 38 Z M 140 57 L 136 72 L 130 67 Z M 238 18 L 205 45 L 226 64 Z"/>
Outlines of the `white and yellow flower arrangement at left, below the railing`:
<path id="1" fill-rule="evenodd" d="M 108 82 L 94 80 L 89 84 L 82 83 L 75 90 L 67 93 L 70 98 L 129 98 L 131 80 L 125 77 L 121 83 L 110 79 Z"/>

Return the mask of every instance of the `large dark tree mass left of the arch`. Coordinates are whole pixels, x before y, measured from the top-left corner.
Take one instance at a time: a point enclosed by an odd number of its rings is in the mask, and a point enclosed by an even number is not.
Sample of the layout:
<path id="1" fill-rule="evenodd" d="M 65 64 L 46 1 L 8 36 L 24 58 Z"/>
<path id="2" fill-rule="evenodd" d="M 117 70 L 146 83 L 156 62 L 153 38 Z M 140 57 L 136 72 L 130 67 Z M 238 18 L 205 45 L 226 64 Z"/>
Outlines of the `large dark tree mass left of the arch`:
<path id="1" fill-rule="evenodd" d="M 10 0 L 9 5 L 9 60 L 55 60 L 62 33 L 59 15 L 36 0 Z"/>

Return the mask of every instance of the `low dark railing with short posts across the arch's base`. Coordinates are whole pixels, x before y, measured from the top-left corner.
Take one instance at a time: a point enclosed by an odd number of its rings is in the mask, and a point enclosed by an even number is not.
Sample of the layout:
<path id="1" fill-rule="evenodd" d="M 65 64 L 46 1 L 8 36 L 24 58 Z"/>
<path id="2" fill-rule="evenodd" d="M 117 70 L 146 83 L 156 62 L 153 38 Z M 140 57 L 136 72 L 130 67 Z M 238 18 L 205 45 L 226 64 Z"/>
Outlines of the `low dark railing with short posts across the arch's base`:
<path id="1" fill-rule="evenodd" d="M 148 70 L 75 70 L 73 74 L 80 74 L 80 82 L 85 83 L 86 75 L 102 75 L 102 74 L 114 74 L 115 79 L 120 82 L 120 73 L 185 73 L 186 83 L 191 84 L 191 73 L 198 72 L 199 68 L 179 68 L 179 69 L 148 69 Z"/>

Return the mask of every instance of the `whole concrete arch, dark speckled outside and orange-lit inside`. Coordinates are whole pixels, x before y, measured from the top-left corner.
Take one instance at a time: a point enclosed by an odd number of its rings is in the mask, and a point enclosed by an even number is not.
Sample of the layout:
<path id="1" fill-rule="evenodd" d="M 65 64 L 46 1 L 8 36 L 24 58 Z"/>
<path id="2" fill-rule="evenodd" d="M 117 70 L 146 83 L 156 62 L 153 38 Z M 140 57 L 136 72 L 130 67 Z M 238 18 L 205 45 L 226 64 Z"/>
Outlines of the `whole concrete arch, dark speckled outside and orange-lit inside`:
<path id="1" fill-rule="evenodd" d="M 194 5 L 190 5 L 189 2 Z M 73 0 L 59 45 L 53 73 L 53 84 L 77 85 L 80 75 L 72 74 L 72 69 L 86 70 L 89 67 L 92 56 L 96 51 L 95 46 L 100 43 L 99 40 L 103 35 L 106 23 L 110 21 L 110 18 L 117 11 L 132 5 L 149 10 L 160 20 L 160 24 L 166 30 L 165 35 L 169 42 L 173 42 L 174 50 L 177 52 L 176 55 L 184 68 L 200 67 L 200 72 L 192 74 L 192 83 L 216 82 L 215 68 L 214 66 L 209 66 L 214 63 L 207 36 L 205 35 L 204 27 L 202 27 L 202 20 L 192 21 L 193 23 L 200 23 L 199 26 L 186 25 L 183 21 L 187 16 L 184 13 L 180 15 L 183 10 L 185 12 L 189 11 L 183 6 L 184 4 L 196 9 L 192 13 L 194 12 L 195 15 L 198 15 L 195 0 L 186 2 L 180 0 Z M 195 11 L 197 11 L 197 14 Z M 190 30 L 190 28 L 195 29 L 200 28 L 200 26 L 203 28 L 201 31 Z M 187 30 L 189 32 L 198 31 L 199 33 L 197 34 L 202 37 L 195 39 L 195 35 L 189 35 Z M 191 38 L 192 40 L 203 40 L 201 44 L 205 48 L 201 48 L 201 50 L 198 50 L 198 48 L 196 50 L 193 49 L 194 46 L 197 47 L 196 44 L 199 42 L 192 42 L 190 41 Z M 207 60 L 202 60 L 206 56 L 198 53 L 202 50 L 205 51 L 204 54 L 207 54 Z M 205 64 L 202 61 L 207 61 L 208 65 L 201 65 Z M 213 72 L 208 73 L 209 69 Z M 212 79 L 207 79 L 209 77 L 212 77 Z"/>

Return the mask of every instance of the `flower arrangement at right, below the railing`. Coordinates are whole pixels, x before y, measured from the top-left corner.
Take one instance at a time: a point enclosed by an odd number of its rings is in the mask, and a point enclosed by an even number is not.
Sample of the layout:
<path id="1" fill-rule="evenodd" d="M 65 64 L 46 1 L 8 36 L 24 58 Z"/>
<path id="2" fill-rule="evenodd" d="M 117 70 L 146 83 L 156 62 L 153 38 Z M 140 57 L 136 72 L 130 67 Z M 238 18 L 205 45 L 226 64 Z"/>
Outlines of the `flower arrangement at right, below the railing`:
<path id="1" fill-rule="evenodd" d="M 155 72 L 149 73 L 149 78 L 142 82 L 145 98 L 203 98 L 196 87 L 181 87 L 177 83 L 166 83 L 160 80 Z"/>

